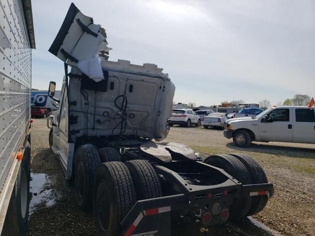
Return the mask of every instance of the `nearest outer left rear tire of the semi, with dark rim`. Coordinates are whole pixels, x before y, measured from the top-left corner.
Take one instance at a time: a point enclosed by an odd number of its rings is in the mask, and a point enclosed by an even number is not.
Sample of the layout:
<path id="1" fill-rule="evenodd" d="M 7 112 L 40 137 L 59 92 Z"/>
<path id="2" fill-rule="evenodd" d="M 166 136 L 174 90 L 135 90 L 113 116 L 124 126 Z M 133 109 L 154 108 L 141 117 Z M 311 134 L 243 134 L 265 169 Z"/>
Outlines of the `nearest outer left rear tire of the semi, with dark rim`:
<path id="1" fill-rule="evenodd" d="M 120 235 L 120 223 L 137 201 L 132 177 L 122 162 L 105 162 L 95 173 L 93 214 L 99 236 Z"/>

